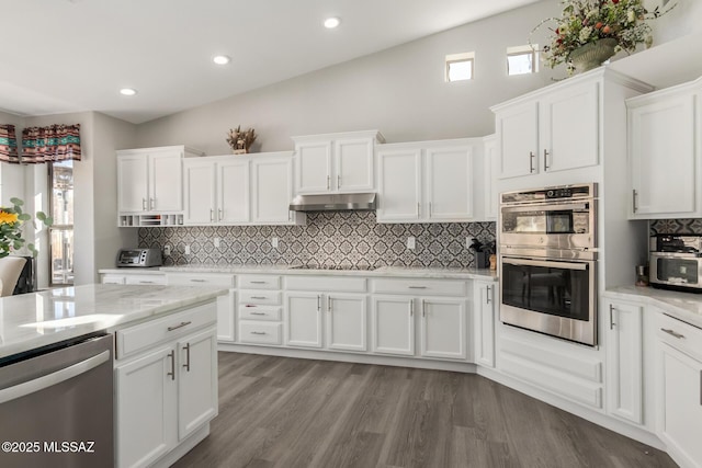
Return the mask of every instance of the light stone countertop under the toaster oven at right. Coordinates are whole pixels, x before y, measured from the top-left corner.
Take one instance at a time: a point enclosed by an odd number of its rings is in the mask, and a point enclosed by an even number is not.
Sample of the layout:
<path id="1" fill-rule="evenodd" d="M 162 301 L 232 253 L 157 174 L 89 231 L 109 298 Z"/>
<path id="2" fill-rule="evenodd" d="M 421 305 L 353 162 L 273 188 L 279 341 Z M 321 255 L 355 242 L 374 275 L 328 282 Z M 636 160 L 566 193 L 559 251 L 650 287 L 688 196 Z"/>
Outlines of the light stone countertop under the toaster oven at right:
<path id="1" fill-rule="evenodd" d="M 604 297 L 644 303 L 657 307 L 683 322 L 702 328 L 702 294 L 679 293 L 653 287 L 618 286 L 607 289 Z"/>

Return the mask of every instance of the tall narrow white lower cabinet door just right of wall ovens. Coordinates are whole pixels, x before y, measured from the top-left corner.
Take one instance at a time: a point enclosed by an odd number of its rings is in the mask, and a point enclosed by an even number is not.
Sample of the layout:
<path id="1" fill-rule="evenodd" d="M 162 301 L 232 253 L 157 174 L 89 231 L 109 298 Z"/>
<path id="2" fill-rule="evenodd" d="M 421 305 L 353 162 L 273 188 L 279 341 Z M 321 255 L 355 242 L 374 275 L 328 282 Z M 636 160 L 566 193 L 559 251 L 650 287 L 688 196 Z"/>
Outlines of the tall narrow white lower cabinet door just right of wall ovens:
<path id="1" fill-rule="evenodd" d="M 607 303 L 608 408 L 611 414 L 643 423 L 642 308 Z"/>

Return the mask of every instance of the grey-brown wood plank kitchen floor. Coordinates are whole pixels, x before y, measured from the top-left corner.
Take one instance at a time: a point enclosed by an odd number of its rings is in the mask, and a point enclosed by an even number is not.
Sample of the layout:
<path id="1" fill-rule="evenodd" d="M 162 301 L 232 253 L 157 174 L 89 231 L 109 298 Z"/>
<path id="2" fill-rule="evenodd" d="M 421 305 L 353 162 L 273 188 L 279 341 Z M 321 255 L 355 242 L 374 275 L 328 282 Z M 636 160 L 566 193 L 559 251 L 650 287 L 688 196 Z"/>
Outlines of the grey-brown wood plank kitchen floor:
<path id="1" fill-rule="evenodd" d="M 473 374 L 219 353 L 219 415 L 176 467 L 676 467 Z"/>

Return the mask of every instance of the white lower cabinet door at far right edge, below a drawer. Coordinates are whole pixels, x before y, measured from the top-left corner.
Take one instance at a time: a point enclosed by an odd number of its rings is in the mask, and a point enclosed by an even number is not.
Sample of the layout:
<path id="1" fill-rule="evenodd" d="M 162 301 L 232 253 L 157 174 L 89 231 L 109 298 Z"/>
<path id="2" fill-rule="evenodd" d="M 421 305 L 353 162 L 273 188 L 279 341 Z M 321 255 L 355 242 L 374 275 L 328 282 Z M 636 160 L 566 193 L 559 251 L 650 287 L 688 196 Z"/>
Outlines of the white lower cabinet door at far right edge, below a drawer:
<path id="1" fill-rule="evenodd" d="M 667 445 L 681 466 L 701 466 L 702 363 L 663 344 L 663 365 Z"/>

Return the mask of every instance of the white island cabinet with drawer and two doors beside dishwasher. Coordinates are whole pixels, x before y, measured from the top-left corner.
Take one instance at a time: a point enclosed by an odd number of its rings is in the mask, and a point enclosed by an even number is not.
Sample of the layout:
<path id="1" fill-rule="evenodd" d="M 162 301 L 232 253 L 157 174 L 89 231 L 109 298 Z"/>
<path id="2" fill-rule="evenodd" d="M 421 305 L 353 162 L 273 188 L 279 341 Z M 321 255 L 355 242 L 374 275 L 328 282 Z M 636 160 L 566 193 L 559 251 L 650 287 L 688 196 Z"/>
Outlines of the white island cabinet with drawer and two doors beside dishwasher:
<path id="1" fill-rule="evenodd" d="M 193 322 L 196 312 L 199 321 Z M 146 467 L 217 415 L 214 304 L 117 331 L 115 361 L 116 466 Z M 166 327 L 162 333 L 160 326 Z M 170 326 L 168 326 L 170 323 Z M 204 323 L 204 326 L 202 326 Z M 190 327 L 201 326 L 191 330 Z M 121 333 L 127 333 L 125 340 Z M 167 341 L 162 336 L 173 333 Z M 121 343 L 134 344 L 120 358 Z"/>

